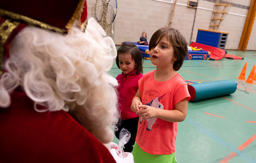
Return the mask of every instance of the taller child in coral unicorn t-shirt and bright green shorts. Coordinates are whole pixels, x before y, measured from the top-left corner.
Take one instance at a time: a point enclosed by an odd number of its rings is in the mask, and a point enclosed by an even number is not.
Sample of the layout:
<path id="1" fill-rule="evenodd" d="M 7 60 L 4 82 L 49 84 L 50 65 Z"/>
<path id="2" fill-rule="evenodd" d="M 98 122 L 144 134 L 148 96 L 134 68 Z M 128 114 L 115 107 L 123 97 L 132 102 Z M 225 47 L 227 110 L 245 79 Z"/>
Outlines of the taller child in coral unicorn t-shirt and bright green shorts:
<path id="1" fill-rule="evenodd" d="M 185 120 L 190 98 L 187 83 L 177 72 L 187 55 L 187 42 L 178 30 L 160 28 L 150 39 L 149 51 L 156 70 L 139 80 L 131 105 L 140 117 L 134 162 L 176 162 L 177 122 Z"/>

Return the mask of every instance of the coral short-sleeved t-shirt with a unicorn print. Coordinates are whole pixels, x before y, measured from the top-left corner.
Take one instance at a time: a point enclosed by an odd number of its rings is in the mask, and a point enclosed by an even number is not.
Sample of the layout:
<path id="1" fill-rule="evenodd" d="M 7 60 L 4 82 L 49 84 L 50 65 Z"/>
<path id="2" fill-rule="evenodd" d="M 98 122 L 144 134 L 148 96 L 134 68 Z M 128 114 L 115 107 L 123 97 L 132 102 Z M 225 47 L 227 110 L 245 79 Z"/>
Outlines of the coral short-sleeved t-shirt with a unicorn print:
<path id="1" fill-rule="evenodd" d="M 174 110 L 175 104 L 190 99 L 186 81 L 177 73 L 167 81 L 156 81 L 154 71 L 147 72 L 139 80 L 142 104 L 158 109 Z M 175 152 L 177 122 L 160 118 L 141 119 L 138 123 L 136 142 L 150 154 L 172 154 Z"/>

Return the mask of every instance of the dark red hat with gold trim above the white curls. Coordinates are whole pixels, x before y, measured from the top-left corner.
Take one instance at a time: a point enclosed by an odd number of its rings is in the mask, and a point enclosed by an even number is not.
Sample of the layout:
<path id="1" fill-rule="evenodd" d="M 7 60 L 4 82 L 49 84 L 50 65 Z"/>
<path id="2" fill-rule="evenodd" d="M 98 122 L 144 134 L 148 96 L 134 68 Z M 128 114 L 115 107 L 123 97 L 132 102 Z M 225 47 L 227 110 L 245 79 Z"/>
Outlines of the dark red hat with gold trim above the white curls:
<path id="1" fill-rule="evenodd" d="M 0 75 L 9 58 L 9 44 L 27 25 L 68 34 L 75 20 L 87 25 L 86 0 L 8 0 L 0 3 Z"/>

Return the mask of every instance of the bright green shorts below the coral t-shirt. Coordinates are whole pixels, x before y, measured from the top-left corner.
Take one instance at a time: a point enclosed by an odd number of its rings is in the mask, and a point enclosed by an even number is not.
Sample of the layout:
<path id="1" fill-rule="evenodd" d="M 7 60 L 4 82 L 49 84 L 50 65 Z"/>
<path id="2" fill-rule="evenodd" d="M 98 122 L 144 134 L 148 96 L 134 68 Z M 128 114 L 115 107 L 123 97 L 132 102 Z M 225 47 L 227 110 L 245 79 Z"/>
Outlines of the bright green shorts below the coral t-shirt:
<path id="1" fill-rule="evenodd" d="M 140 146 L 135 142 L 132 150 L 134 162 L 136 163 L 150 163 L 150 162 L 166 162 L 176 163 L 175 152 L 172 154 L 149 154 L 144 152 Z"/>

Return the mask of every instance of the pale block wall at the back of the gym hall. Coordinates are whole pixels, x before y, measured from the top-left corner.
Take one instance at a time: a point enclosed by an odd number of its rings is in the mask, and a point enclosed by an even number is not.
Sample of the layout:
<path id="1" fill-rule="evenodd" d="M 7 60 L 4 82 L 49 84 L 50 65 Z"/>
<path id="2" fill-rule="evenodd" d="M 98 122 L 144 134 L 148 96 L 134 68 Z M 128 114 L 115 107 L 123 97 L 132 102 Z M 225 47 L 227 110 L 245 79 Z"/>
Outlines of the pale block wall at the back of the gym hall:
<path id="1" fill-rule="evenodd" d="M 95 2 L 96 0 L 87 0 L 89 18 L 91 17 L 91 7 Z M 115 44 L 120 45 L 124 41 L 137 42 L 142 31 L 147 32 L 149 41 L 158 28 L 169 25 L 173 5 L 171 2 L 171 0 L 117 0 L 118 9 L 113 23 L 114 35 L 112 36 Z M 234 3 L 238 2 L 234 0 Z M 243 1 L 241 5 L 249 6 L 250 0 Z M 185 36 L 188 43 L 190 39 L 195 42 L 198 28 L 209 29 L 213 7 L 214 2 L 198 0 L 198 8 L 196 10 L 187 7 L 187 0 L 177 0 L 172 27 L 178 29 Z M 238 49 L 247 12 L 247 9 L 232 6 L 225 20 L 222 21 L 219 30 L 229 32 L 226 43 L 227 50 Z M 255 26 L 256 20 L 247 50 L 256 50 Z"/>

